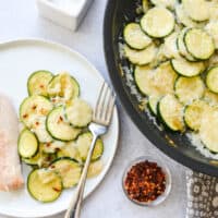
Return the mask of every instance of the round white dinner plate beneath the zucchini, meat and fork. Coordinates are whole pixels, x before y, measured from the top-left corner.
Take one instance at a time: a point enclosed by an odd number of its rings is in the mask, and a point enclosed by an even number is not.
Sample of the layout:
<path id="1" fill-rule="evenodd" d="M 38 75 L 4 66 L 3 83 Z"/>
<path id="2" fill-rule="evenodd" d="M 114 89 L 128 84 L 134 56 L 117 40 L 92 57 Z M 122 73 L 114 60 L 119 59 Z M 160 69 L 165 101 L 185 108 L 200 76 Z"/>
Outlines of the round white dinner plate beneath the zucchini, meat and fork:
<path id="1" fill-rule="evenodd" d="M 95 106 L 104 78 L 84 57 L 59 44 L 22 39 L 0 44 L 0 92 L 11 97 L 16 111 L 27 96 L 27 77 L 37 70 L 70 72 L 81 85 L 81 97 Z M 104 136 L 104 170 L 98 177 L 87 181 L 85 197 L 99 185 L 109 170 L 116 154 L 118 136 L 119 119 L 114 109 L 111 125 Z M 29 168 L 24 166 L 23 171 L 26 181 Z M 26 185 L 16 192 L 0 192 L 0 214 L 28 218 L 51 216 L 66 209 L 73 193 L 74 189 L 65 190 L 56 202 L 43 204 L 29 196 Z"/>

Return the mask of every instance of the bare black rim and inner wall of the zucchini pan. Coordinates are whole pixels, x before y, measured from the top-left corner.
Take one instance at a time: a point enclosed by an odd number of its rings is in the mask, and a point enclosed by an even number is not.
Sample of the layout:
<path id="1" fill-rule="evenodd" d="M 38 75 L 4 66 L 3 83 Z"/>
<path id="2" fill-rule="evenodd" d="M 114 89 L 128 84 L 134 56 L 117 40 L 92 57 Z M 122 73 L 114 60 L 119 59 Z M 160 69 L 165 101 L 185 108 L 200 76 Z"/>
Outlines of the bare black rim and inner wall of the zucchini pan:
<path id="1" fill-rule="evenodd" d="M 130 94 L 130 88 L 125 85 L 120 68 L 121 64 L 125 63 L 120 59 L 118 43 L 126 19 L 134 21 L 135 8 L 135 1 L 132 0 L 108 0 L 106 8 L 104 22 L 105 57 L 116 93 L 133 122 L 156 147 L 195 171 L 218 177 L 218 161 L 201 155 L 186 136 L 171 133 L 168 130 L 158 130 L 147 113 L 138 109 L 138 101 Z"/>

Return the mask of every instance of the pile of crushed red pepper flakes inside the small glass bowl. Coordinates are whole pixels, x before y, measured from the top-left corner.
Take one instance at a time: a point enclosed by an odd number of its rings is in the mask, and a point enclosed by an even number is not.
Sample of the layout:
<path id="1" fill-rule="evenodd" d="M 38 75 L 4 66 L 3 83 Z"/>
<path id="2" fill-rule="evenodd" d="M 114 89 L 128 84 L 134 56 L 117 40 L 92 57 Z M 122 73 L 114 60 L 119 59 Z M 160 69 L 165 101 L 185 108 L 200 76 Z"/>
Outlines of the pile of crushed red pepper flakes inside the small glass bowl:
<path id="1" fill-rule="evenodd" d="M 166 174 L 156 162 L 138 162 L 128 172 L 124 189 L 133 201 L 155 201 L 166 190 Z"/>

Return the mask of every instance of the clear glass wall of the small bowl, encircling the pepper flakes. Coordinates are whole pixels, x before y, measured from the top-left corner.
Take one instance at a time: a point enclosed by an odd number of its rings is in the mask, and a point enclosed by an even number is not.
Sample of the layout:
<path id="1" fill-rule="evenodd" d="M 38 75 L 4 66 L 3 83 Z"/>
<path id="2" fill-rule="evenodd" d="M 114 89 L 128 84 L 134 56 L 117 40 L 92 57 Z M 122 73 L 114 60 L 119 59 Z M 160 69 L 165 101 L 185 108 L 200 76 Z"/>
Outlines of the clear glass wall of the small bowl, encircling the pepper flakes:
<path id="1" fill-rule="evenodd" d="M 129 194 L 128 194 L 128 192 L 124 187 L 124 182 L 125 182 L 126 174 L 131 170 L 131 168 L 134 165 L 142 162 L 142 161 L 145 161 L 145 160 L 148 160 L 149 162 L 156 162 L 158 165 L 158 167 L 161 168 L 162 172 L 166 174 L 166 189 L 165 189 L 165 192 L 161 195 L 159 195 L 155 201 L 138 202 L 138 201 L 132 199 L 129 196 Z M 136 205 L 140 205 L 140 206 L 150 206 L 150 207 L 153 207 L 153 206 L 159 205 L 160 203 L 162 203 L 168 197 L 168 195 L 171 191 L 171 185 L 172 185 L 172 179 L 171 179 L 171 173 L 170 173 L 169 168 L 160 159 L 154 158 L 152 156 L 142 156 L 142 157 L 138 157 L 138 158 L 134 159 L 133 161 L 131 161 L 130 165 L 124 170 L 123 178 L 122 178 L 122 187 L 123 187 L 123 191 L 124 191 L 126 197 L 131 202 L 133 202 L 133 203 L 135 203 Z"/>

